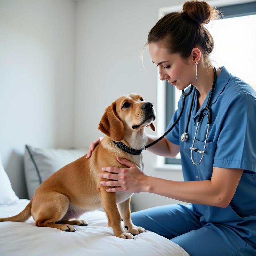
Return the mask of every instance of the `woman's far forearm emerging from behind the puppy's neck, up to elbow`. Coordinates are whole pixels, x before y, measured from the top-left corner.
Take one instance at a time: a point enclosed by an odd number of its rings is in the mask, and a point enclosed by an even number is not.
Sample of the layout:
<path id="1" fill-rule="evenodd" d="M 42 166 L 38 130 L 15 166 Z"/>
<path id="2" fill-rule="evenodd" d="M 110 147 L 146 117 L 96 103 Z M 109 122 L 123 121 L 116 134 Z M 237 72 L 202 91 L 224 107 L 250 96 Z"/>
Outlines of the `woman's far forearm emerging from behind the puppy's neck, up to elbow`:
<path id="1" fill-rule="evenodd" d="M 148 141 L 147 141 L 147 145 L 154 142 L 155 140 L 157 140 L 160 136 L 156 136 L 156 135 L 149 135 L 146 134 Z M 171 157 L 170 156 L 170 149 L 168 147 L 168 144 L 166 142 L 165 137 L 162 140 L 159 140 L 155 145 L 147 148 L 147 150 L 151 153 L 154 153 L 158 156 L 164 156 L 164 157 Z"/>

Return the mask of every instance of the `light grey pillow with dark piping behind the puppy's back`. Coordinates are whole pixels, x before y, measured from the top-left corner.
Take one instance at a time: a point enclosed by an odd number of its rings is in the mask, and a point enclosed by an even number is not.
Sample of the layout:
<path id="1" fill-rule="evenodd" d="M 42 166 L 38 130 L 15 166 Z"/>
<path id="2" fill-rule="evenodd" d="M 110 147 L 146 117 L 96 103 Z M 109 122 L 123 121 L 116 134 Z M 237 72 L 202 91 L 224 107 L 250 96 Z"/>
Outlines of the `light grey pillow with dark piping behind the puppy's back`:
<path id="1" fill-rule="evenodd" d="M 29 199 L 52 173 L 84 156 L 88 149 L 43 149 L 25 145 L 24 171 Z"/>

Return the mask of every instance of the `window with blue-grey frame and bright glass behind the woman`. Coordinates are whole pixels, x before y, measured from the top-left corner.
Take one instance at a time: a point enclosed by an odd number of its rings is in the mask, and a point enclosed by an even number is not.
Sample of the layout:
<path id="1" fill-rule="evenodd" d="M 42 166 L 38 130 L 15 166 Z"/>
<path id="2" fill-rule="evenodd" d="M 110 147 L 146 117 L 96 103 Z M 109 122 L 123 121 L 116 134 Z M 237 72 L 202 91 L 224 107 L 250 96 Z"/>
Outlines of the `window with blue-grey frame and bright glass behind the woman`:
<path id="1" fill-rule="evenodd" d="M 214 39 L 212 63 L 250 84 L 256 90 L 256 2 L 219 7 L 224 19 L 214 20 L 205 27 Z M 225 28 L 225 29 L 224 29 Z M 225 42 L 225 43 L 223 43 Z M 181 91 L 166 82 L 166 124 L 177 109 Z M 184 127 L 185 129 L 185 127 Z M 180 154 L 166 158 L 166 164 L 180 164 Z"/>

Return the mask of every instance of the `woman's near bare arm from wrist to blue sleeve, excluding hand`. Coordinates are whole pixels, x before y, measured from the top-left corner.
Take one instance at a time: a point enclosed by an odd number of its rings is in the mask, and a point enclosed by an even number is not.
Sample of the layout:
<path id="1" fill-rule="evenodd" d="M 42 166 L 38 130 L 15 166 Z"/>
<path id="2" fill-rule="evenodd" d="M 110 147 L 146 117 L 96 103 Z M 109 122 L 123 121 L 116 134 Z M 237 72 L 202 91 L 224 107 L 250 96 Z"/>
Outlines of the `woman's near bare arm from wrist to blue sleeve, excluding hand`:
<path id="1" fill-rule="evenodd" d="M 141 192 L 225 208 L 233 198 L 242 174 L 241 169 L 213 167 L 211 180 L 173 181 L 146 176 Z"/>

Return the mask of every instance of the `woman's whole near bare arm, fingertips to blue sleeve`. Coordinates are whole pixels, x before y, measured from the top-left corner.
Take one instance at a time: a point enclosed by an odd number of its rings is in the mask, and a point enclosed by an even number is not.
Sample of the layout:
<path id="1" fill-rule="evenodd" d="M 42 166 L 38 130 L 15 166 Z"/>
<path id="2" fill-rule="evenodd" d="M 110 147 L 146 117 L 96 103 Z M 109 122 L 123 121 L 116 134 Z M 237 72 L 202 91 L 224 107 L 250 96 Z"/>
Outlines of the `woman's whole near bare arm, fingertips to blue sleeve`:
<path id="1" fill-rule="evenodd" d="M 173 181 L 147 176 L 140 168 L 128 161 L 117 157 L 117 160 L 129 167 L 118 168 L 104 166 L 99 176 L 106 178 L 100 181 L 102 186 L 110 186 L 108 192 L 151 192 L 170 197 L 183 202 L 227 207 L 233 198 L 242 169 L 213 167 L 211 180 L 201 181 Z M 111 179 L 112 181 L 108 181 Z"/>

